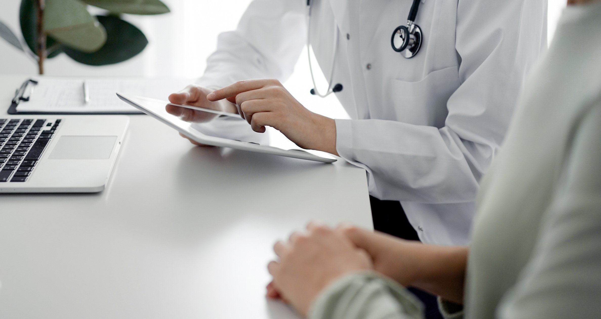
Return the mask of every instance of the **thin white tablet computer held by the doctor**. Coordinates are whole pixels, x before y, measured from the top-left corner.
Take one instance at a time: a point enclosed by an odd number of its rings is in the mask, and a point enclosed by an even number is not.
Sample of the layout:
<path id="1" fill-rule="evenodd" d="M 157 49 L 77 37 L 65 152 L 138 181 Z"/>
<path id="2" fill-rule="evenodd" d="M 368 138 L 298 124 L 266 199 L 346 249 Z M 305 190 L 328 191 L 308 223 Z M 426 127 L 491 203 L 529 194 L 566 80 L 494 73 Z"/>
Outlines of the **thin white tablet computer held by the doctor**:
<path id="1" fill-rule="evenodd" d="M 320 156 L 320 155 L 311 154 L 307 151 L 302 151 L 302 150 L 284 150 L 282 148 L 272 147 L 269 145 L 261 145 L 261 144 L 257 144 L 254 142 L 236 141 L 234 139 L 209 136 L 209 135 L 206 135 L 206 134 L 201 133 L 198 130 L 194 129 L 194 126 L 192 126 L 191 123 L 182 121 L 182 120 L 180 120 L 180 118 L 169 114 L 165 110 L 165 107 L 170 104 L 172 105 L 172 103 L 162 101 L 162 100 L 150 99 L 147 97 L 127 96 L 126 94 L 123 94 L 123 93 L 117 93 L 117 96 L 119 97 L 119 99 L 123 100 L 127 104 L 133 106 L 136 109 L 139 109 L 140 111 L 144 112 L 145 114 L 150 115 L 153 118 L 156 118 L 157 120 L 161 121 L 162 123 L 165 123 L 168 126 L 173 127 L 174 129 L 178 130 L 183 135 L 186 135 L 186 136 L 188 136 L 188 138 L 191 138 L 194 141 L 197 141 L 201 144 L 221 146 L 221 147 L 231 147 L 231 148 L 236 148 L 237 150 L 245 150 L 245 151 L 252 151 L 252 152 L 257 152 L 257 153 L 294 157 L 295 159 L 315 160 L 317 162 L 323 162 L 323 163 L 336 162 L 336 159 L 334 158 L 334 156 L 332 156 L 332 157 L 329 157 L 327 155 Z M 186 106 L 186 107 L 191 108 L 190 106 Z M 192 108 L 194 108 L 194 107 L 192 107 Z M 194 109 L 197 110 L 198 112 L 206 112 L 207 122 L 215 120 L 218 117 L 224 117 L 224 116 L 234 116 L 234 117 L 240 118 L 240 115 L 237 115 L 237 114 L 213 111 L 213 110 L 202 109 L 202 108 L 194 108 Z M 240 121 L 243 121 L 243 119 L 240 118 Z"/>

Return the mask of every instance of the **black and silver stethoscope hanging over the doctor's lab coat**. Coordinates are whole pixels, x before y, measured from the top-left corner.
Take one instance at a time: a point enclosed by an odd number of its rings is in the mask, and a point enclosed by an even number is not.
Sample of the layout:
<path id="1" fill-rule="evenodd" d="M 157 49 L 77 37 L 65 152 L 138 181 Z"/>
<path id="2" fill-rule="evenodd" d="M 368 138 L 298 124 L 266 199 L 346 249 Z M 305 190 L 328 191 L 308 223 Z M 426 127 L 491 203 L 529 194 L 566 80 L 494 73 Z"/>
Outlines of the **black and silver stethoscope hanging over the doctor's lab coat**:
<path id="1" fill-rule="evenodd" d="M 411 10 L 409 11 L 409 16 L 407 17 L 407 25 L 397 26 L 394 31 L 392 31 L 392 37 L 390 38 L 390 45 L 392 46 L 392 50 L 396 52 L 400 52 L 401 55 L 410 59 L 413 58 L 421 48 L 421 43 L 424 41 L 424 35 L 421 32 L 421 28 L 415 24 L 415 17 L 417 16 L 417 12 L 419 10 L 419 2 L 421 0 L 413 0 L 413 4 L 411 5 Z M 328 90 L 325 94 L 319 93 L 317 90 L 317 85 L 315 84 L 315 77 L 313 76 L 313 66 L 311 65 L 311 7 L 312 1 L 307 0 L 308 7 L 308 32 L 307 32 L 307 58 L 309 59 L 309 70 L 311 72 L 311 81 L 313 81 L 313 88 L 311 89 L 311 94 L 326 97 L 332 93 L 340 92 L 343 89 L 342 84 L 338 83 L 334 86 L 332 79 L 334 78 L 334 66 L 336 65 L 336 56 L 338 54 L 338 26 L 336 23 L 336 30 L 334 32 L 334 56 L 332 56 L 332 70 L 330 72 L 329 82 L 328 82 Z"/>

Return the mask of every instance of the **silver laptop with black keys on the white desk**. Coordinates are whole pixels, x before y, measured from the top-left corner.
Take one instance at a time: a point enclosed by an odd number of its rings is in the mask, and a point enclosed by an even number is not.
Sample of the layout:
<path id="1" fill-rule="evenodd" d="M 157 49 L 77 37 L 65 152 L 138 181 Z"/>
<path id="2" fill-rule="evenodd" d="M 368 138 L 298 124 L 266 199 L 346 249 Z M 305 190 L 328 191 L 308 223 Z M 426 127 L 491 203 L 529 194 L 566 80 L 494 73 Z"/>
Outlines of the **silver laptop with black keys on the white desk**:
<path id="1" fill-rule="evenodd" d="M 123 115 L 0 115 L 0 193 L 102 191 L 128 124 Z"/>

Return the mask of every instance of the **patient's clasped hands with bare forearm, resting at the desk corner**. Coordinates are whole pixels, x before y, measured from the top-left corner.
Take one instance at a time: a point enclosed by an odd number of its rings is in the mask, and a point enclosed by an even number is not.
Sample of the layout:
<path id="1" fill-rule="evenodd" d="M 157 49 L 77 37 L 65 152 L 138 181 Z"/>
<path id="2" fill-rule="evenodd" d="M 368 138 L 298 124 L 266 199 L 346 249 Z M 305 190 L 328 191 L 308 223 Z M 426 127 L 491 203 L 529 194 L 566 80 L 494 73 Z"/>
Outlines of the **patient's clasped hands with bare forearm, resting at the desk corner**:
<path id="1" fill-rule="evenodd" d="M 267 265 L 273 276 L 267 297 L 285 300 L 302 315 L 329 284 L 366 270 L 463 302 L 466 247 L 424 245 L 355 226 L 334 229 L 312 222 L 307 232 L 294 232 L 273 251 L 278 260 Z"/>

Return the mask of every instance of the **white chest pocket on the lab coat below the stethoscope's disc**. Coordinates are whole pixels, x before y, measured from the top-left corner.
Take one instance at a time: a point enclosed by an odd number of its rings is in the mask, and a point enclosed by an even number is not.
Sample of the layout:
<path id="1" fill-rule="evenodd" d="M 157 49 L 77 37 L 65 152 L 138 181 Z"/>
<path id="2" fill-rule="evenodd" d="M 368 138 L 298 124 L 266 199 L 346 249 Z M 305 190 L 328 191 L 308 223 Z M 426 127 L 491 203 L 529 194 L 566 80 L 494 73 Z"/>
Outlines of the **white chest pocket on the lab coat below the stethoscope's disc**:
<path id="1" fill-rule="evenodd" d="M 391 81 L 393 116 L 403 123 L 441 128 L 447 118 L 447 101 L 459 88 L 457 66 L 430 72 L 417 82 Z"/>

